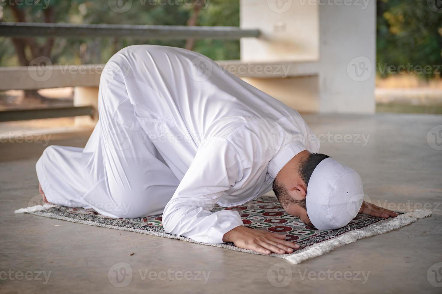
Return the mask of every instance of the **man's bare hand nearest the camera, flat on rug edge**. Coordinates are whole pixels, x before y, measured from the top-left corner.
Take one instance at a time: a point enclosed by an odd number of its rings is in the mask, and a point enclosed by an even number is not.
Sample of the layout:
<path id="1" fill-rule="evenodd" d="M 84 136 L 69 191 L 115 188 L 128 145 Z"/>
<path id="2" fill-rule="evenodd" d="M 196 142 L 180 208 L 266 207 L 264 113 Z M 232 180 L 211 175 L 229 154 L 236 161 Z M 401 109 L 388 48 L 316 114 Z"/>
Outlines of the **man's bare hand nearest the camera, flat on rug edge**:
<path id="1" fill-rule="evenodd" d="M 233 242 L 239 248 L 255 250 L 263 254 L 270 254 L 271 252 L 278 254 L 292 253 L 293 249 L 299 248 L 298 244 L 285 241 L 285 238 L 286 235 L 255 230 L 240 225 L 225 233 L 222 241 Z"/>

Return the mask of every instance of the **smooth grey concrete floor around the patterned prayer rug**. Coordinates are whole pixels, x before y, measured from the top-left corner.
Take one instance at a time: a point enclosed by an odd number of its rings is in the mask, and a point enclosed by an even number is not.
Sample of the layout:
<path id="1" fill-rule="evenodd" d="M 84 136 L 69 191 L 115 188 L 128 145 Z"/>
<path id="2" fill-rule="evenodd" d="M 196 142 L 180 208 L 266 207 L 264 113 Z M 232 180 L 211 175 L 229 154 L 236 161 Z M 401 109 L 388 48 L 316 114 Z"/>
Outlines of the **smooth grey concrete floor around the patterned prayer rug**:
<path id="1" fill-rule="evenodd" d="M 442 283 L 428 270 L 442 262 L 442 151 L 432 149 L 426 137 L 432 127 L 442 125 L 442 116 L 304 118 L 316 134 L 323 134 L 321 152 L 358 170 L 371 199 L 408 202 L 411 207 L 431 203 L 433 215 L 288 265 L 274 257 L 14 214 L 38 194 L 34 164 L 44 147 L 1 143 L 0 293 L 441 293 L 442 288 L 431 283 Z M 347 136 L 351 142 L 339 143 L 339 134 L 351 134 Z M 370 135 L 368 143 L 363 146 L 363 139 L 359 142 L 353 134 Z M 54 135 L 50 144 L 84 146 L 87 138 L 88 133 Z M 133 271 L 130 284 L 123 288 L 108 279 L 108 271 L 112 277 L 114 264 L 120 262 Z M 281 283 L 275 283 L 273 269 L 281 273 Z M 29 280 L 16 279 L 26 271 L 31 272 Z M 50 272 L 47 283 L 38 271 Z M 350 280 L 340 276 L 346 271 L 351 272 L 346 274 Z M 207 283 L 194 272 L 209 275 Z M 366 283 L 363 274 L 369 274 Z"/>

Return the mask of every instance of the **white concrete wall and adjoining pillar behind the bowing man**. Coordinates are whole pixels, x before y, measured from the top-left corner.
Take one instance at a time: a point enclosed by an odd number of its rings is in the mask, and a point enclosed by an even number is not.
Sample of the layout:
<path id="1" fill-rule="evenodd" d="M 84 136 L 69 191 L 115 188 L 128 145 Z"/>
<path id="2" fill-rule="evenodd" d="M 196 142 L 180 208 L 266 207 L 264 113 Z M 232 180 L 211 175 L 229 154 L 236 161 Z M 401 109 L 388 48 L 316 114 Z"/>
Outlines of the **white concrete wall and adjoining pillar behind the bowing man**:
<path id="1" fill-rule="evenodd" d="M 316 77 L 250 84 L 298 111 L 375 111 L 375 1 L 241 0 L 240 8 L 241 27 L 263 32 L 241 39 L 241 61 L 318 62 Z"/>

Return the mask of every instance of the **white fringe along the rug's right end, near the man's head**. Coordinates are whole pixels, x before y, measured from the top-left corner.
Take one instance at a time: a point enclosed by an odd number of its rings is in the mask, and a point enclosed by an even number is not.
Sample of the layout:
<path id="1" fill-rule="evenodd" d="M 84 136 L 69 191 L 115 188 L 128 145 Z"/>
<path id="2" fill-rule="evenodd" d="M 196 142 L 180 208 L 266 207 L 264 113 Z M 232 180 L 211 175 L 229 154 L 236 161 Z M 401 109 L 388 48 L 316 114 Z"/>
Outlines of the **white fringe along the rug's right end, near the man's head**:
<path id="1" fill-rule="evenodd" d="M 400 214 L 396 218 L 385 219 L 381 222 L 369 225 L 366 228 L 355 229 L 350 232 L 343 233 L 339 237 L 314 244 L 302 249 L 301 251 L 293 252 L 289 256 L 285 256 L 284 259 L 290 263 L 298 264 L 303 262 L 304 260 L 323 255 L 324 253 L 330 252 L 334 248 L 350 244 L 359 239 L 387 233 L 394 229 L 409 225 L 412 222 L 417 221 L 418 218 L 426 218 L 431 214 L 432 212 L 430 210 L 424 209 L 418 209 Z"/>

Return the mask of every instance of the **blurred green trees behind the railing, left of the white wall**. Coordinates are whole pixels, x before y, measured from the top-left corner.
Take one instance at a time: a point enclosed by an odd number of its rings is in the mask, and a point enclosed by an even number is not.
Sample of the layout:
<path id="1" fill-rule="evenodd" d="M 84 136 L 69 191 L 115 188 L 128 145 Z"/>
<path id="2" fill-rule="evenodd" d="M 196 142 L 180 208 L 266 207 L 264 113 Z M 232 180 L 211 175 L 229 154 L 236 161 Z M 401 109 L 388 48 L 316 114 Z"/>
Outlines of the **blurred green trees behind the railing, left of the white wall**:
<path id="1" fill-rule="evenodd" d="M 107 1 L 50 0 L 49 3 L 55 12 L 54 22 L 60 23 L 184 26 L 194 13 L 189 0 L 133 0 L 131 8 L 124 13 L 113 11 L 107 5 Z M 202 0 L 200 3 L 204 6 L 198 15 L 199 26 L 239 26 L 239 0 Z M 44 22 L 42 6 L 22 5 L 20 9 L 26 11 L 28 22 Z M 1 21 L 15 21 L 10 7 L 4 7 Z M 42 38 L 38 39 L 41 41 Z M 114 53 L 126 46 L 155 44 L 184 47 L 185 43 L 186 40 L 149 40 L 129 37 L 55 38 L 51 59 L 53 63 L 105 63 Z M 214 60 L 238 59 L 239 48 L 239 41 L 231 40 L 203 39 L 194 43 L 194 51 Z M 0 38 L 0 65 L 19 65 L 12 42 L 8 38 Z"/>

